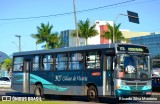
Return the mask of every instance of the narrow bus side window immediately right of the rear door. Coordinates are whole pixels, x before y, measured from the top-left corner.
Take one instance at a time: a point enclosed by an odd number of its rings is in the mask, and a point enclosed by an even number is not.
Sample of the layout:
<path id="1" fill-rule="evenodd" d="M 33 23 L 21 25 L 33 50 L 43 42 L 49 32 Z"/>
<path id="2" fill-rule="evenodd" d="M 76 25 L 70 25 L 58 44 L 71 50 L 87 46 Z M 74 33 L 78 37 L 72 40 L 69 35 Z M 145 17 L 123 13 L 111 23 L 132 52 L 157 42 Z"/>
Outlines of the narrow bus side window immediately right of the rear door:
<path id="1" fill-rule="evenodd" d="M 33 71 L 40 70 L 40 56 L 33 57 Z"/>

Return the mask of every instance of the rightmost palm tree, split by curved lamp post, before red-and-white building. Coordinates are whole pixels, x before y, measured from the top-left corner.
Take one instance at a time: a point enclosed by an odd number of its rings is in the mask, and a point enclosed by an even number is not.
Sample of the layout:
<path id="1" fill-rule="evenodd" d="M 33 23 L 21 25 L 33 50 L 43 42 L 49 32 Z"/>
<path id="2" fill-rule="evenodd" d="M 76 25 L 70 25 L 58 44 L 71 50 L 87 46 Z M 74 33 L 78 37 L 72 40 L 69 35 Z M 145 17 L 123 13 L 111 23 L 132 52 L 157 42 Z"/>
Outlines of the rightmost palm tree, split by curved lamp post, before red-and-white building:
<path id="1" fill-rule="evenodd" d="M 120 26 L 121 24 L 118 24 L 117 26 L 114 25 L 114 41 L 115 42 L 126 40 L 122 32 L 119 30 Z M 108 31 L 104 32 L 102 37 L 106 39 L 111 39 L 113 43 L 113 26 L 111 26 L 110 24 L 107 24 L 107 27 L 108 27 Z"/>

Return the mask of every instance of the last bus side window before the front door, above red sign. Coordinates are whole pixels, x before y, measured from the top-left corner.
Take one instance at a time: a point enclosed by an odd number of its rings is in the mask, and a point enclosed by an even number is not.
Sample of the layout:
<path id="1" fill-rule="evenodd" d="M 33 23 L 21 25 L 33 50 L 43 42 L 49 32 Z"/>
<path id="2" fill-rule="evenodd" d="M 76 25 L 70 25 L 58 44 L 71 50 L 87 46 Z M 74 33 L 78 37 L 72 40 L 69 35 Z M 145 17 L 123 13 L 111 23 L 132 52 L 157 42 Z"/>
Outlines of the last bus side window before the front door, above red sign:
<path id="1" fill-rule="evenodd" d="M 101 52 L 86 53 L 86 69 L 100 69 Z"/>

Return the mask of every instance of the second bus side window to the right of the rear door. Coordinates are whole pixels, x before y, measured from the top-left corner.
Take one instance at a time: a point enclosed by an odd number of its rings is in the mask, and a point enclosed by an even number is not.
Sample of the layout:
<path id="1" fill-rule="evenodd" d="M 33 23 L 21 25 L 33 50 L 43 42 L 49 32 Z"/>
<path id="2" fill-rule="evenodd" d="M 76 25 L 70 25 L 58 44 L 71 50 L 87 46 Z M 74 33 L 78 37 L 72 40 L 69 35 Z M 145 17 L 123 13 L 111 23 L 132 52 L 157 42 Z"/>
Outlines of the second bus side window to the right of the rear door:
<path id="1" fill-rule="evenodd" d="M 53 57 L 52 57 L 52 55 L 43 55 L 42 69 L 43 70 L 53 69 Z"/>

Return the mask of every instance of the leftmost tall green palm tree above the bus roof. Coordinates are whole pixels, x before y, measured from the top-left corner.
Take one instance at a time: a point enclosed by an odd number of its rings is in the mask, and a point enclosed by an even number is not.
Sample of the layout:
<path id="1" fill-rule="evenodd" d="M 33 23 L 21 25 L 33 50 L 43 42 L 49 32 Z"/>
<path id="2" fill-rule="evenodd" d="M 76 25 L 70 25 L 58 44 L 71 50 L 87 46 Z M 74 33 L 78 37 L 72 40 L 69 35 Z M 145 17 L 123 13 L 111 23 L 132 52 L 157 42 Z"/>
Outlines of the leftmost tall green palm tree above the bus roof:
<path id="1" fill-rule="evenodd" d="M 52 33 L 52 25 L 45 25 L 44 23 L 41 23 L 41 26 L 37 26 L 37 34 L 32 34 L 31 36 L 35 39 L 37 39 L 36 44 L 46 43 L 45 48 L 55 48 L 56 45 L 59 43 L 59 37 L 57 33 Z M 54 46 L 52 46 L 54 44 Z"/>

